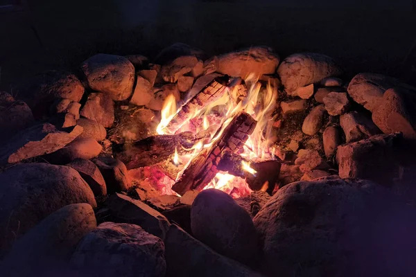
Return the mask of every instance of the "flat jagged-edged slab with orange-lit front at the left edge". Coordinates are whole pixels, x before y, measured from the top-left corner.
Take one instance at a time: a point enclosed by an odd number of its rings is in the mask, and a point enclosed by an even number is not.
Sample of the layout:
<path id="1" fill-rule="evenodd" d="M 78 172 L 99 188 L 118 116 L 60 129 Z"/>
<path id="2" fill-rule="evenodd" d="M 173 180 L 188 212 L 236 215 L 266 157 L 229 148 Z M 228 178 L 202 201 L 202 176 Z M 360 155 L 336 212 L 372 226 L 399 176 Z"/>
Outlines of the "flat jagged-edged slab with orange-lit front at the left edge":
<path id="1" fill-rule="evenodd" d="M 38 124 L 15 134 L 0 148 L 0 164 L 18 163 L 64 148 L 83 132 L 76 125 L 59 130 L 50 123 Z"/>

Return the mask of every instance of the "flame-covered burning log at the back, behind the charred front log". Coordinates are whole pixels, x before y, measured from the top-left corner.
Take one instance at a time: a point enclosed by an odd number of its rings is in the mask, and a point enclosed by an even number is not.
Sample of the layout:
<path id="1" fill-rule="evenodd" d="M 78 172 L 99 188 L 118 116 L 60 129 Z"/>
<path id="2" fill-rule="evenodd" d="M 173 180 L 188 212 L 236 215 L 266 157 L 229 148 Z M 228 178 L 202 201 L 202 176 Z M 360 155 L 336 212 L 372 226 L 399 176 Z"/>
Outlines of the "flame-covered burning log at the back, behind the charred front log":
<path id="1" fill-rule="evenodd" d="M 189 118 L 197 114 L 198 111 L 202 110 L 203 107 L 221 98 L 228 91 L 227 82 L 227 77 L 214 79 L 200 93 L 197 93 L 185 103 L 165 128 L 169 132 L 176 132 L 177 129 L 186 123 Z"/>

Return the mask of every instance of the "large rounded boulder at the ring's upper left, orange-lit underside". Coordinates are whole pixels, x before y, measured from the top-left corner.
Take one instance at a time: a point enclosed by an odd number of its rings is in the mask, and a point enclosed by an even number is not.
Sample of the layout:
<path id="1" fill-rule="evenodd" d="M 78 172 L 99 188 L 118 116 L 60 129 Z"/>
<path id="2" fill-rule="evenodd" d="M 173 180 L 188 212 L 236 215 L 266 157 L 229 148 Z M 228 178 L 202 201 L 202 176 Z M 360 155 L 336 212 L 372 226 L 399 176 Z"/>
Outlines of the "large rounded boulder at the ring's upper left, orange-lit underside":
<path id="1" fill-rule="evenodd" d="M 81 69 L 89 87 L 107 93 L 112 100 L 125 100 L 132 94 L 135 66 L 125 57 L 97 54 L 83 62 Z"/>

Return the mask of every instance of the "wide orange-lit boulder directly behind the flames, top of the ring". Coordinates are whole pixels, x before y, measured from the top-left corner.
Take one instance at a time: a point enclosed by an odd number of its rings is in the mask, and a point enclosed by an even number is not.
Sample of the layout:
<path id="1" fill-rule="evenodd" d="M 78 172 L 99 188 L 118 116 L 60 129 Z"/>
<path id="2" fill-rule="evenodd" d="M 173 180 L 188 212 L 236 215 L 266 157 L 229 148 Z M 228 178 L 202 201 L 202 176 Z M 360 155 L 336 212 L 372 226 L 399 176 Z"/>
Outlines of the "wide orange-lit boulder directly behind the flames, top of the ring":
<path id="1" fill-rule="evenodd" d="M 272 48 L 254 46 L 218 56 L 213 60 L 216 71 L 232 77 L 246 78 L 250 73 L 256 77 L 275 73 L 279 55 Z"/>

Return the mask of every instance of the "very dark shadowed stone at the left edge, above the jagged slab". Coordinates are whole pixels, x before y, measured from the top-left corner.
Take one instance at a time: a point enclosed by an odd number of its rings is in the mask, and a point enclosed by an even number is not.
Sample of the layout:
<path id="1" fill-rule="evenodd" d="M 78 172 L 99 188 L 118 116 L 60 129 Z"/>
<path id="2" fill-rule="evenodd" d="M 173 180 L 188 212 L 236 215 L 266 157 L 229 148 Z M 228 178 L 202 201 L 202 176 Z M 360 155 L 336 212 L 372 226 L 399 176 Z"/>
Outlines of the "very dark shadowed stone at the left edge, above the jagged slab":
<path id="1" fill-rule="evenodd" d="M 0 142 L 7 141 L 33 123 L 35 118 L 25 102 L 15 100 L 9 93 L 0 91 Z"/>

